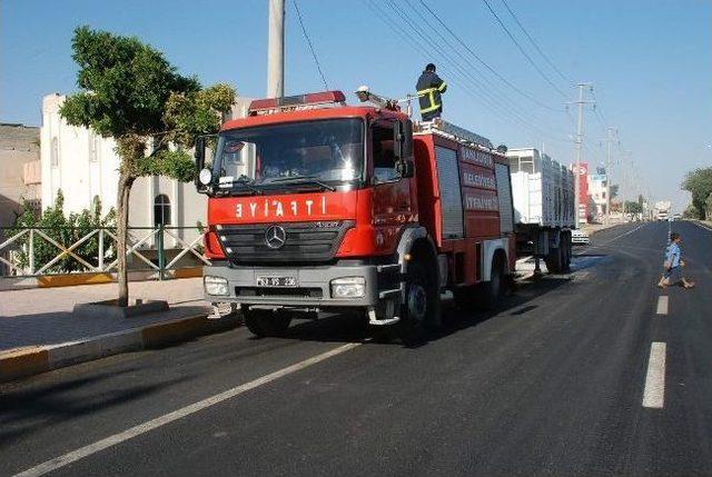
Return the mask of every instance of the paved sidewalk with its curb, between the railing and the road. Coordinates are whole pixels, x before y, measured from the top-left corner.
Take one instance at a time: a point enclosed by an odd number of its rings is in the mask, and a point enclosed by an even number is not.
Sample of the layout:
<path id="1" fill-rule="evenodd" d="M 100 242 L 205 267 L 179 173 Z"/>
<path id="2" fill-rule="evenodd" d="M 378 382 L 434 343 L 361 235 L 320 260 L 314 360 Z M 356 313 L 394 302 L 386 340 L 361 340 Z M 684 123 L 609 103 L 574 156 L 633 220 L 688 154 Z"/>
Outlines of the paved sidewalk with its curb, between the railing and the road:
<path id="1" fill-rule="evenodd" d="M 116 298 L 116 284 L 0 291 L 0 381 L 237 324 L 206 318 L 201 278 L 138 281 L 129 289 L 131 301 L 162 299 L 170 310 L 123 319 L 72 314 L 75 304 Z"/>

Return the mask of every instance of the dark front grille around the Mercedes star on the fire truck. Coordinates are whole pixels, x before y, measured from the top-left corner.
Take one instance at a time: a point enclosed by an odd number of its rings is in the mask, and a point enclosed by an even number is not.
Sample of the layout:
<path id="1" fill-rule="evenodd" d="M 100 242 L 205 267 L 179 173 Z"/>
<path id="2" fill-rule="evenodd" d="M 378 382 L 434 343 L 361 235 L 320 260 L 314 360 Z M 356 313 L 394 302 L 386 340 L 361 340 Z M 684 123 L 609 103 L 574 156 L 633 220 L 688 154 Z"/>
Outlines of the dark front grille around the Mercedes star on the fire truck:
<path id="1" fill-rule="evenodd" d="M 284 228 L 284 245 L 267 246 L 265 233 L 273 226 Z M 236 265 L 256 262 L 315 262 L 334 258 L 352 220 L 283 222 L 249 226 L 219 225 L 215 227 L 225 256 Z"/>

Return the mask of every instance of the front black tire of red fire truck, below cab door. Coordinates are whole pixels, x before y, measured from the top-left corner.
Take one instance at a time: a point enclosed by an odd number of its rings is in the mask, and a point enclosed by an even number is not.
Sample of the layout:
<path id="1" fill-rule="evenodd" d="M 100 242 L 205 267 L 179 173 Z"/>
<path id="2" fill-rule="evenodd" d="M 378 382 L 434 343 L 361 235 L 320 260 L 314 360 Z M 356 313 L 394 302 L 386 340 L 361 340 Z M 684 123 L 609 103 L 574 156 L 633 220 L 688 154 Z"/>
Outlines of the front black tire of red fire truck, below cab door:
<path id="1" fill-rule="evenodd" d="M 398 338 L 411 345 L 423 340 L 428 329 L 437 328 L 441 324 L 437 285 L 419 261 L 408 266 L 405 297 L 405 304 L 400 306 L 400 321 L 396 327 Z"/>

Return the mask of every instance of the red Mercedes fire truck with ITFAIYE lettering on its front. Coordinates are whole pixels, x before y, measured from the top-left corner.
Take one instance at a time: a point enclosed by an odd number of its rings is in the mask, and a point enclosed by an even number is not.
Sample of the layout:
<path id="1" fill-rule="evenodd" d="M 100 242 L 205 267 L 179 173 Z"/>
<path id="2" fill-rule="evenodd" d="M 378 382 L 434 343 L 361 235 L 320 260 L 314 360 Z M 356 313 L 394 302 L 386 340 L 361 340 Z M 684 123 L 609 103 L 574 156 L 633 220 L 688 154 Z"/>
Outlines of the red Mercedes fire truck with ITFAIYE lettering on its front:
<path id="1" fill-rule="evenodd" d="M 255 100 L 206 160 L 205 294 L 258 336 L 352 310 L 406 338 L 439 325 L 439 297 L 492 306 L 514 270 L 508 162 L 446 122 L 340 91 Z"/>

